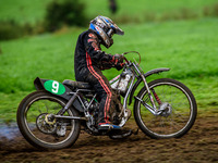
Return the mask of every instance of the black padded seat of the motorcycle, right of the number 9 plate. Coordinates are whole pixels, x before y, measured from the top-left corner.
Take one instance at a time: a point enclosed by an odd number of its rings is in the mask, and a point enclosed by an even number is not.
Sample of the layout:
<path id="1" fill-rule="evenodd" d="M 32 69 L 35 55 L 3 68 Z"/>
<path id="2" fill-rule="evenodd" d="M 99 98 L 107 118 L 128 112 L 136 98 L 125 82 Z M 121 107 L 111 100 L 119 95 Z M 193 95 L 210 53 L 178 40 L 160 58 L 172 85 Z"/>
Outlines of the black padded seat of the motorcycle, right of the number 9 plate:
<path id="1" fill-rule="evenodd" d="M 70 86 L 71 88 L 75 89 L 90 89 L 92 86 L 88 83 L 82 83 L 82 82 L 74 82 L 74 80 L 70 80 L 70 79 L 64 79 L 63 85 Z"/>

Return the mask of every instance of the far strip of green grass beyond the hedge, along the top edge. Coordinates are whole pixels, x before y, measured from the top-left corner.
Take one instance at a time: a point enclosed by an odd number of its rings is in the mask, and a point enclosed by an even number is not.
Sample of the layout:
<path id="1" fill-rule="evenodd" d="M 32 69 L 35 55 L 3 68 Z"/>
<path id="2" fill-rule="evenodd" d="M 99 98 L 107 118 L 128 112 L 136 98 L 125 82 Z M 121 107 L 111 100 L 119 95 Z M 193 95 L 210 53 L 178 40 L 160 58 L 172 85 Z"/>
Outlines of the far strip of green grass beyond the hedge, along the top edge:
<path id="1" fill-rule="evenodd" d="M 21 24 L 36 24 L 44 20 L 46 5 L 52 0 L 1 0 L 0 21 L 14 20 Z M 213 5 L 217 0 L 117 0 L 118 13 L 111 15 L 108 0 L 81 0 L 86 4 L 86 14 L 89 18 L 96 15 L 112 16 L 113 18 L 128 15 L 136 15 L 140 20 L 145 13 L 154 13 L 160 16 L 164 13 L 177 13 L 181 9 L 190 9 L 197 15 L 203 13 L 203 8 Z"/>

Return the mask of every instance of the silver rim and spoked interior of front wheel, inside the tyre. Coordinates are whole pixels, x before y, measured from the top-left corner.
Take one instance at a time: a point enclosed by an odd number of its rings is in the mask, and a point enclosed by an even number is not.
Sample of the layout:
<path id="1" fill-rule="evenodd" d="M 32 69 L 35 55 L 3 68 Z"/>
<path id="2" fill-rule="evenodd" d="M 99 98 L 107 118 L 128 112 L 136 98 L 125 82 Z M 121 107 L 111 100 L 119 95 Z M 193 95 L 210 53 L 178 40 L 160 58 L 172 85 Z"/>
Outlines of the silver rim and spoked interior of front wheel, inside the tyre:
<path id="1" fill-rule="evenodd" d="M 155 90 L 162 103 L 170 104 L 171 113 L 155 116 L 138 102 L 137 113 L 143 127 L 156 137 L 174 137 L 182 133 L 193 116 L 193 103 L 189 93 L 181 86 L 167 82 L 154 84 L 149 88 Z M 148 102 L 147 97 L 144 91 L 141 99 Z M 156 100 L 155 103 L 159 108 Z M 150 102 L 148 104 L 152 105 Z"/>

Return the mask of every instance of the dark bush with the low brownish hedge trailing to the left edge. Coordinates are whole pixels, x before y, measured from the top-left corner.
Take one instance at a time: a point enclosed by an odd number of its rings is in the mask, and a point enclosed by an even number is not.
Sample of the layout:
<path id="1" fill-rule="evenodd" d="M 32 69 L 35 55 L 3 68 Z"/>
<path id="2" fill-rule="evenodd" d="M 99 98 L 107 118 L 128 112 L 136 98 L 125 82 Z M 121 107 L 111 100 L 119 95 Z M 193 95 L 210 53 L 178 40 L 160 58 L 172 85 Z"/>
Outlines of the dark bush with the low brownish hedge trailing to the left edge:
<path id="1" fill-rule="evenodd" d="M 85 5 L 78 0 L 53 0 L 47 7 L 45 21 L 38 22 L 36 25 L 20 25 L 10 20 L 0 22 L 0 40 L 53 32 L 64 25 L 87 25 L 84 10 Z"/>

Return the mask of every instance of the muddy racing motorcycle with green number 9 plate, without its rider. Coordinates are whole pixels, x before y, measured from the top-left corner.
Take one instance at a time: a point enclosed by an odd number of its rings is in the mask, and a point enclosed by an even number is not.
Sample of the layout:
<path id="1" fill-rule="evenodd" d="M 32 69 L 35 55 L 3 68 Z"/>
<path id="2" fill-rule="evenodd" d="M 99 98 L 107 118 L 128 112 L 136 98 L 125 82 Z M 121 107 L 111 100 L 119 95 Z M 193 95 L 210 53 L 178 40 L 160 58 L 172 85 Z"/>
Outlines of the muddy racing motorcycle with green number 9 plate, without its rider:
<path id="1" fill-rule="evenodd" d="M 130 114 L 128 104 L 134 100 L 132 112 L 138 128 L 150 138 L 179 138 L 193 126 L 197 105 L 191 90 L 171 78 L 158 78 L 147 83 L 153 74 L 170 68 L 156 68 L 144 73 L 140 61 L 128 60 L 120 75 L 110 80 L 111 88 L 119 93 L 122 109 L 111 115 L 113 124 L 123 127 Z M 98 96 L 87 83 L 70 79 L 59 83 L 37 77 L 36 91 L 25 97 L 17 109 L 17 125 L 24 138 L 33 146 L 44 149 L 71 147 L 82 129 L 94 136 L 125 138 L 135 134 L 132 129 L 98 130 Z"/>

